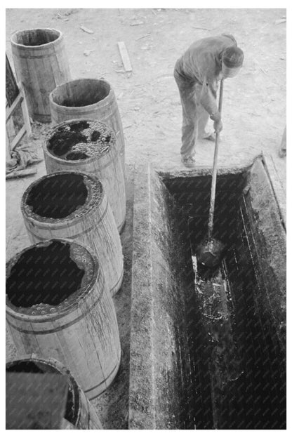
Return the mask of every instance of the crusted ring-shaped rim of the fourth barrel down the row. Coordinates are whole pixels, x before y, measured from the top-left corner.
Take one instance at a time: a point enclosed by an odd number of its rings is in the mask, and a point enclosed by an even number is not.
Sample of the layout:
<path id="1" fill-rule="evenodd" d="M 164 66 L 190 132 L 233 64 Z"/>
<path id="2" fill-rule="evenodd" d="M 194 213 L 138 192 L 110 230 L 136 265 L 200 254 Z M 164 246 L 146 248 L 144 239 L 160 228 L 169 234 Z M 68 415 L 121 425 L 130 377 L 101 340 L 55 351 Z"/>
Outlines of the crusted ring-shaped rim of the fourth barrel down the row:
<path id="1" fill-rule="evenodd" d="M 65 175 L 65 174 L 69 174 L 69 173 L 82 175 L 82 176 L 88 178 L 89 180 L 92 180 L 93 183 L 95 183 L 95 185 L 98 185 L 99 190 L 100 190 L 100 197 L 99 197 L 98 202 L 94 201 L 91 187 L 89 187 L 89 196 L 86 199 L 85 204 L 78 211 L 78 213 L 76 213 L 76 211 L 75 211 L 75 212 L 70 213 L 69 215 L 65 216 L 65 218 L 54 219 L 54 218 L 48 218 L 46 216 L 41 216 L 41 215 L 38 215 L 38 214 L 33 213 L 31 211 L 28 211 L 29 209 L 27 206 L 27 197 L 29 196 L 29 192 L 32 190 L 32 187 L 35 187 L 36 185 L 41 183 L 41 181 L 46 180 L 48 178 L 53 178 L 53 177 L 58 176 L 58 175 Z M 84 185 L 86 185 L 85 180 L 84 180 Z M 88 188 L 88 187 L 86 186 L 86 188 Z M 22 194 L 22 198 L 21 198 L 21 202 L 20 202 L 20 210 L 22 212 L 23 217 L 27 221 L 29 221 L 29 223 L 46 223 L 46 224 L 51 224 L 52 226 L 55 225 L 58 228 L 58 225 L 60 226 L 64 223 L 67 223 L 68 226 L 72 226 L 76 223 L 79 223 L 81 217 L 84 217 L 84 215 L 91 213 L 92 211 L 95 211 L 96 208 L 100 208 L 104 198 L 105 198 L 104 187 L 103 187 L 100 179 L 96 175 L 93 175 L 92 173 L 86 173 L 84 171 L 77 171 L 77 170 L 70 169 L 67 171 L 57 171 L 54 173 L 49 173 L 48 175 L 44 175 L 41 178 L 34 180 L 27 187 L 25 192 Z M 77 217 L 76 217 L 76 214 L 78 214 Z"/>

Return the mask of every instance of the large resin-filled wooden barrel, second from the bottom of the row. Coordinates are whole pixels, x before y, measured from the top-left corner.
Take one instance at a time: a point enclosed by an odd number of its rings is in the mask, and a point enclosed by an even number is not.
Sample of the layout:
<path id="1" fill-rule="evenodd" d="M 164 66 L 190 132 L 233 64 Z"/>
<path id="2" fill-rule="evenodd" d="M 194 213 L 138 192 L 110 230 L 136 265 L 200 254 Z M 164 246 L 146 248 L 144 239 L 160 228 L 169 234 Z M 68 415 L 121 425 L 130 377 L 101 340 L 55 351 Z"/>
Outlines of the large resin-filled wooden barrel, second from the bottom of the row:
<path id="1" fill-rule="evenodd" d="M 93 251 L 51 239 L 6 264 L 6 321 L 18 354 L 62 362 L 88 399 L 112 383 L 121 348 L 114 302 Z"/>

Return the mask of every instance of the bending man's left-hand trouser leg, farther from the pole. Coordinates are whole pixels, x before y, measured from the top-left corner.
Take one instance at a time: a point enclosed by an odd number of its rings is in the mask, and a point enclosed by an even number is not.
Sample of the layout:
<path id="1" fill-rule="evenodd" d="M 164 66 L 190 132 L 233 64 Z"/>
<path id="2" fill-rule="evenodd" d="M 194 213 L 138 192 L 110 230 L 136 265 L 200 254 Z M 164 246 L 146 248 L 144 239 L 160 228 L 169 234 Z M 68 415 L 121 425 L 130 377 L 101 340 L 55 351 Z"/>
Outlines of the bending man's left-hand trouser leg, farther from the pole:
<path id="1" fill-rule="evenodd" d="M 195 146 L 198 137 L 199 114 L 194 93 L 194 83 L 175 77 L 180 92 L 180 102 L 183 108 L 182 147 L 180 154 L 183 160 L 194 159 Z"/>

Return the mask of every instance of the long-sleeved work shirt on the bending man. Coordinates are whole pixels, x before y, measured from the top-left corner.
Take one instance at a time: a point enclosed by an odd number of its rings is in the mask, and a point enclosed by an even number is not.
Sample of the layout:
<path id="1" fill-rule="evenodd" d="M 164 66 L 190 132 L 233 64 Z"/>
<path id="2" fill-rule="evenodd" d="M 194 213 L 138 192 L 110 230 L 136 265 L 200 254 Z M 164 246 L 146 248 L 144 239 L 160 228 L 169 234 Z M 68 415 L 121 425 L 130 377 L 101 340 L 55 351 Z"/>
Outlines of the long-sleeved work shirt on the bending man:
<path id="1" fill-rule="evenodd" d="M 200 103 L 209 114 L 218 113 L 216 93 L 221 79 L 221 56 L 225 48 L 237 46 L 232 35 L 209 36 L 195 41 L 178 59 L 175 69 L 182 79 L 202 86 Z"/>

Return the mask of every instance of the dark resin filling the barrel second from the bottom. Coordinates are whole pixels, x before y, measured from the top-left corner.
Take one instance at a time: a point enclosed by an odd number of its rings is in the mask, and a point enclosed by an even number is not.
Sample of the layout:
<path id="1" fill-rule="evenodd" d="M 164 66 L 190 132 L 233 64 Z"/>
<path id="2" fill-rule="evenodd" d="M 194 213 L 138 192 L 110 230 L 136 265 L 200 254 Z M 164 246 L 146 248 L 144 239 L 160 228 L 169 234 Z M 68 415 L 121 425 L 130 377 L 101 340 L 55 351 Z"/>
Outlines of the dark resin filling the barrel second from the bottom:
<path id="1" fill-rule="evenodd" d="M 57 306 L 81 287 L 84 270 L 72 260 L 70 245 L 51 241 L 27 249 L 11 268 L 6 295 L 15 307 Z"/>

